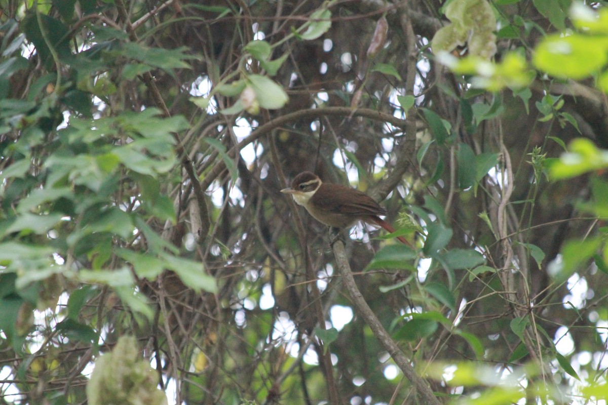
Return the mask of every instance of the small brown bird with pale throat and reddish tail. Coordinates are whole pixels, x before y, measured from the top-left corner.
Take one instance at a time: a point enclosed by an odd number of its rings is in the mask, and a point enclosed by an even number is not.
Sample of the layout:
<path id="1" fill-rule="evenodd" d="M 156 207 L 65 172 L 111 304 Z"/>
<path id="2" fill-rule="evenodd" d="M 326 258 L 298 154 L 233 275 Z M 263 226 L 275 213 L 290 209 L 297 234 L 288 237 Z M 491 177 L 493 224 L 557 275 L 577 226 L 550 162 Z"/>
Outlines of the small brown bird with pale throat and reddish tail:
<path id="1" fill-rule="evenodd" d="M 306 208 L 314 219 L 332 228 L 350 228 L 356 222 L 382 226 L 389 233 L 395 232 L 390 223 L 381 219 L 386 210 L 370 196 L 359 190 L 333 183 L 323 183 L 313 172 L 305 171 L 294 177 L 291 187 L 281 190 L 291 194 L 294 201 Z M 410 245 L 406 238 L 399 242 Z"/>

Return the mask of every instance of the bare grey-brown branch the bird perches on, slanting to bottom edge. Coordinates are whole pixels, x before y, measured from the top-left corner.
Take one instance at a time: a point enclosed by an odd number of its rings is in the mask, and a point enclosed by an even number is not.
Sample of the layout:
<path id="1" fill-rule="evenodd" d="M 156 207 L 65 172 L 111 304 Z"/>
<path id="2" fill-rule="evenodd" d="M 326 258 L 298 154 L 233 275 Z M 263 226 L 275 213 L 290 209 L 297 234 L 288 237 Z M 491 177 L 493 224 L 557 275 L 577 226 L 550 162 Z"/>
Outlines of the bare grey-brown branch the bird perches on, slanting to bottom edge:
<path id="1" fill-rule="evenodd" d="M 334 256 L 336 256 L 336 263 L 340 275 L 342 276 L 342 281 L 344 282 L 348 295 L 357 308 L 359 315 L 361 315 L 365 323 L 369 325 L 374 336 L 376 336 L 376 339 L 378 339 L 382 347 L 389 352 L 390 356 L 395 360 L 395 363 L 406 378 L 410 380 L 414 387 L 416 387 L 416 391 L 418 391 L 418 394 L 422 397 L 423 403 L 440 405 L 441 402 L 435 397 L 433 391 L 430 389 L 429 383 L 426 379 L 416 374 L 410 361 L 403 352 L 401 352 L 401 349 L 399 349 L 395 341 L 389 336 L 389 333 L 386 332 L 375 313 L 373 313 L 369 305 L 367 305 L 367 302 L 365 302 L 361 291 L 359 291 L 359 288 L 354 282 L 353 272 L 350 270 L 350 265 L 348 265 L 348 257 L 344 249 L 344 243 L 341 240 L 336 240 L 332 248 Z"/>

